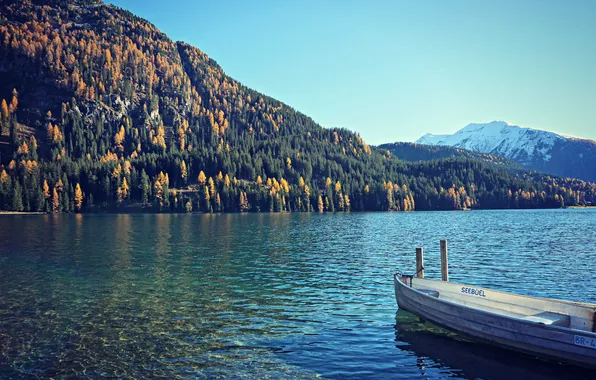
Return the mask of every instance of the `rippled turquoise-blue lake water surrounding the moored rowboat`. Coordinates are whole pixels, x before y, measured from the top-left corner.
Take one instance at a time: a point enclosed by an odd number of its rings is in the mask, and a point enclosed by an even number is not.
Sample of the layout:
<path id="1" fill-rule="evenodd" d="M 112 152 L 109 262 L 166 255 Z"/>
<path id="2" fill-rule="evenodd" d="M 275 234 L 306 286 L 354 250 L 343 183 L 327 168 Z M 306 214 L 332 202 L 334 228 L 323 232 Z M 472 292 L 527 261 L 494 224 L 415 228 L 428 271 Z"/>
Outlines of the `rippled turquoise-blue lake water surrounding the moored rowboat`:
<path id="1" fill-rule="evenodd" d="M 397 312 L 392 274 L 596 303 L 594 210 L 0 215 L 0 378 L 561 378 Z"/>

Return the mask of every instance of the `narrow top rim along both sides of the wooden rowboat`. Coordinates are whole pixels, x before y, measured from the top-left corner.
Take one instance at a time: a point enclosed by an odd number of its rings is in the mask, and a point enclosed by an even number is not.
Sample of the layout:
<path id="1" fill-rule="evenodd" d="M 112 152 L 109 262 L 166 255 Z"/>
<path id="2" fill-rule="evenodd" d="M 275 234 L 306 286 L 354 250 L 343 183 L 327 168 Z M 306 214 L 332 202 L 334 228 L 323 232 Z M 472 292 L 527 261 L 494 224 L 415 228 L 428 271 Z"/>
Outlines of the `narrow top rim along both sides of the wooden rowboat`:
<path id="1" fill-rule="evenodd" d="M 403 286 L 404 288 L 413 290 L 416 294 L 421 295 L 421 296 L 424 296 L 427 299 L 431 299 L 431 300 L 433 300 L 435 302 L 441 302 L 443 304 L 451 305 L 451 306 L 454 306 L 454 307 L 459 307 L 459 308 L 462 308 L 462 309 L 465 309 L 465 310 L 469 310 L 469 311 L 472 311 L 472 312 L 476 312 L 476 313 L 486 314 L 486 315 L 489 315 L 489 316 L 492 316 L 492 317 L 503 318 L 505 320 L 509 320 L 510 322 L 515 322 L 515 323 L 520 323 L 521 322 L 521 323 L 523 323 L 523 324 L 525 324 L 527 326 L 532 326 L 532 327 L 537 327 L 538 326 L 538 327 L 541 327 L 541 328 L 548 328 L 548 329 L 552 329 L 554 331 L 560 331 L 560 332 L 565 332 L 565 333 L 572 333 L 572 332 L 575 333 L 575 332 L 578 332 L 578 333 L 580 333 L 582 335 L 589 334 L 588 337 L 594 337 L 594 338 L 596 338 L 596 332 L 593 332 L 593 331 L 580 330 L 580 329 L 575 329 L 575 328 L 572 328 L 572 327 L 563 327 L 563 326 L 557 326 L 557 325 L 547 325 L 547 324 L 544 324 L 544 323 L 541 323 L 541 322 L 528 321 L 528 320 L 524 320 L 522 318 L 516 318 L 516 317 L 512 317 L 512 316 L 505 315 L 505 314 L 498 314 L 498 313 L 494 313 L 494 312 L 491 312 L 491 311 L 486 311 L 486 310 L 482 310 L 482 309 L 479 309 L 479 308 L 462 305 L 460 303 L 456 303 L 456 302 L 452 302 L 452 301 L 447 301 L 445 299 L 441 299 L 440 297 L 433 297 L 433 296 L 431 296 L 431 295 L 429 295 L 427 293 L 424 293 L 424 292 L 419 291 L 418 289 L 416 289 L 416 288 L 414 288 L 412 286 L 408 286 L 407 284 L 404 284 L 399 278 L 397 278 L 397 275 L 398 275 L 398 273 L 395 273 L 393 275 L 394 282 L 397 282 L 397 283 L 399 283 L 400 286 Z M 424 278 L 424 280 L 434 281 L 434 282 L 437 282 L 437 283 L 443 282 L 443 281 L 440 281 L 440 280 L 433 280 L 433 279 L 428 279 L 428 278 Z M 460 285 L 461 286 L 469 286 L 469 285 L 466 285 L 466 284 L 460 284 L 460 283 L 454 283 L 454 282 L 449 282 L 449 283 L 450 284 L 453 284 L 453 285 L 458 285 L 458 286 L 460 286 Z M 521 295 L 521 294 L 518 295 L 518 294 L 515 294 L 515 293 L 503 292 L 503 291 L 499 291 L 499 290 L 492 290 L 492 289 L 489 289 L 489 288 L 482 288 L 482 287 L 480 287 L 480 288 L 481 289 L 490 290 L 491 292 L 494 291 L 494 292 L 498 292 L 498 293 L 501 293 L 501 294 L 515 295 L 515 296 L 520 296 L 520 297 L 530 298 L 530 299 L 535 299 L 535 300 L 537 299 L 537 300 L 549 301 L 549 302 L 555 301 L 555 302 L 562 302 L 562 303 L 566 303 L 566 304 L 572 304 L 572 305 L 576 305 L 576 306 L 588 306 L 588 307 L 592 307 L 593 308 L 593 312 L 595 313 L 595 318 L 596 318 L 596 304 L 590 304 L 590 303 L 586 303 L 586 302 L 557 300 L 557 299 L 551 299 L 551 298 L 532 297 L 532 296 L 526 296 L 526 295 Z M 439 291 L 439 293 L 440 293 L 440 291 Z M 398 306 L 399 306 L 399 302 L 398 302 Z M 545 310 L 545 311 L 548 311 L 548 310 Z"/>

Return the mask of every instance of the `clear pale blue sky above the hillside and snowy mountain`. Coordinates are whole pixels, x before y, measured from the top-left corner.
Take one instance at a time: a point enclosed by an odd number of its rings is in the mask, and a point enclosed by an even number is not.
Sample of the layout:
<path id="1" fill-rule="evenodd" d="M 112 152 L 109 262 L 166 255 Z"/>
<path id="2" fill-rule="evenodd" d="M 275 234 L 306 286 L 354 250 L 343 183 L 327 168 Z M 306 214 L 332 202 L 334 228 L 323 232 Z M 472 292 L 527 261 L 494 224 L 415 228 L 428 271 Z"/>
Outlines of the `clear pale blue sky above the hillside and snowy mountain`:
<path id="1" fill-rule="evenodd" d="M 596 140 L 596 1 L 108 3 L 369 144 L 492 120 Z"/>

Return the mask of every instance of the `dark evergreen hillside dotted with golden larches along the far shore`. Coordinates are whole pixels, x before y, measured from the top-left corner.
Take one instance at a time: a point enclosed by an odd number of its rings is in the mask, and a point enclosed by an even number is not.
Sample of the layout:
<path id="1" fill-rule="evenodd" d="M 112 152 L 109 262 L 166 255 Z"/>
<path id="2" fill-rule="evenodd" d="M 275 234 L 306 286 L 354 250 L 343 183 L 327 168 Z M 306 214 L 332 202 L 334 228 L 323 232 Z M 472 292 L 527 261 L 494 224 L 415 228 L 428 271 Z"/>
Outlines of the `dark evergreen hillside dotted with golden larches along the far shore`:
<path id="1" fill-rule="evenodd" d="M 99 1 L 0 2 L 0 208 L 430 210 L 594 202 L 595 185 L 407 163 Z"/>

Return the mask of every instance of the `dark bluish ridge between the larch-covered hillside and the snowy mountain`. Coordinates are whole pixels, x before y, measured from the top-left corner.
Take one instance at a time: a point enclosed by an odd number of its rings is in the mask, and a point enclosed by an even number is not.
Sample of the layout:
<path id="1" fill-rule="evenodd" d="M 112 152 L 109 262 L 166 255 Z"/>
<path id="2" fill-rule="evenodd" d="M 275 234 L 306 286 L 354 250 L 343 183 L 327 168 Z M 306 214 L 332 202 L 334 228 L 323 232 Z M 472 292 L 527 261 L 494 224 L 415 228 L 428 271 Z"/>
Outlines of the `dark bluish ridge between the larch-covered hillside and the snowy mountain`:
<path id="1" fill-rule="evenodd" d="M 381 144 L 379 149 L 388 150 L 392 155 L 404 161 L 431 161 L 449 158 L 465 158 L 478 160 L 506 170 L 523 170 L 524 168 L 503 156 L 474 152 L 446 145 L 424 145 L 408 142 Z"/>

